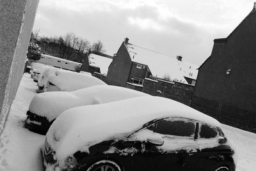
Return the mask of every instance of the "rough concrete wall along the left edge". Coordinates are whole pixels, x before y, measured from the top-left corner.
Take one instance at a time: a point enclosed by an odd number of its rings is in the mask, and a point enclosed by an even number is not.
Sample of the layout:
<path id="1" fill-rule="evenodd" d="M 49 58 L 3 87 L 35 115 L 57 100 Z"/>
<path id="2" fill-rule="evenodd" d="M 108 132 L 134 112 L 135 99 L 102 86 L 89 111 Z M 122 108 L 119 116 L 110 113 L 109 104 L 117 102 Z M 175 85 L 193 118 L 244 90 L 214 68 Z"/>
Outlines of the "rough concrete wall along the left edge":
<path id="1" fill-rule="evenodd" d="M 0 133 L 24 71 L 38 2 L 0 1 Z"/>

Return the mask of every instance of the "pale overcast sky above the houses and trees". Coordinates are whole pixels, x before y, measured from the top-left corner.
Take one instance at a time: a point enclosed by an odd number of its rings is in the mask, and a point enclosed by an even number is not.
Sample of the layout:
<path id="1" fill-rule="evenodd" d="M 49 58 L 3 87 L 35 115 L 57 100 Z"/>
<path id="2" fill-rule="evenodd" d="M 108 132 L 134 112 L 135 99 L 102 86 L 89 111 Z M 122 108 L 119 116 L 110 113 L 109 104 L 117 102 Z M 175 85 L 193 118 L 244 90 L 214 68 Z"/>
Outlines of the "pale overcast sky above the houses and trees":
<path id="1" fill-rule="evenodd" d="M 227 37 L 252 8 L 251 0 L 40 0 L 33 30 L 101 40 L 109 55 L 128 37 L 200 65 L 211 55 L 214 38 Z"/>

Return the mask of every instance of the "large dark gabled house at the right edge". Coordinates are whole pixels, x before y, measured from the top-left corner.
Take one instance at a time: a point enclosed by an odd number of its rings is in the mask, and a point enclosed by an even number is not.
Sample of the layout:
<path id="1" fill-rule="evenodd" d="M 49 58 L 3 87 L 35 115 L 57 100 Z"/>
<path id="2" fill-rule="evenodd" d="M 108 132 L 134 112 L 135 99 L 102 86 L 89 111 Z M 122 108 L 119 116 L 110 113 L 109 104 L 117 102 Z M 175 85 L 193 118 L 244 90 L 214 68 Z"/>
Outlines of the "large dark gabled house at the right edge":
<path id="1" fill-rule="evenodd" d="M 256 3 L 198 70 L 191 107 L 256 133 Z"/>

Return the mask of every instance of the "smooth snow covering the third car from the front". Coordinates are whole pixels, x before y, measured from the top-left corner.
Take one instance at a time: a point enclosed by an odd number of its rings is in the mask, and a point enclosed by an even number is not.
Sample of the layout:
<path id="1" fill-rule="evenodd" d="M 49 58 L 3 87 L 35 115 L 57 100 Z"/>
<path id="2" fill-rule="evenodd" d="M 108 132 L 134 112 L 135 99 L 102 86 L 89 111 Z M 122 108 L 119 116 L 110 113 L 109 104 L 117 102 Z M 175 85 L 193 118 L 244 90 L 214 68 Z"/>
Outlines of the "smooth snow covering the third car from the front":
<path id="1" fill-rule="evenodd" d="M 77 89 L 92 87 L 93 85 L 106 85 L 106 83 L 99 78 L 66 70 L 56 71 L 48 80 L 59 87 L 61 91 L 75 91 Z"/>

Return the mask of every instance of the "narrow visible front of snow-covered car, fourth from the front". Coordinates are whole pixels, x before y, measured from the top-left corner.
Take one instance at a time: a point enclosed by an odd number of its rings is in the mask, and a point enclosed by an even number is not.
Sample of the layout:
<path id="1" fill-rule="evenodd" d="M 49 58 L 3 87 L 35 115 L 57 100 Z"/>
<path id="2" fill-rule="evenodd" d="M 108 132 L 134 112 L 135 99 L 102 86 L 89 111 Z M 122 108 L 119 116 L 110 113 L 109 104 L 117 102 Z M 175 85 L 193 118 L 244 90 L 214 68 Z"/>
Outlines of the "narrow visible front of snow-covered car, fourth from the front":
<path id="1" fill-rule="evenodd" d="M 55 73 L 55 71 L 61 70 L 60 68 L 47 68 L 42 77 L 38 80 L 38 89 L 36 89 L 36 93 L 42 93 L 45 91 L 45 87 L 47 86 L 48 78 Z"/>

